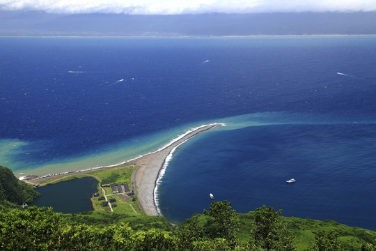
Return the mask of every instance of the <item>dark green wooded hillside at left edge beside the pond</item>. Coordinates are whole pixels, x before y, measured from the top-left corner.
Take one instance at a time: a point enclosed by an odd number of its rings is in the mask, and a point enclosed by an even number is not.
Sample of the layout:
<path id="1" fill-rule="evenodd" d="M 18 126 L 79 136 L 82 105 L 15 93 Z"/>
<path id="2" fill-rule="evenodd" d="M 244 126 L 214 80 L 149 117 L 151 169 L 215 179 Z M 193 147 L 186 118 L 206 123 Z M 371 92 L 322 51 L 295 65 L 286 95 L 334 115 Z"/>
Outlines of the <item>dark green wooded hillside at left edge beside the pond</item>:
<path id="1" fill-rule="evenodd" d="M 39 193 L 33 190 L 33 185 L 19 181 L 10 169 L 0 166 L 1 204 L 6 205 L 4 201 L 18 205 L 27 204 L 38 196 Z"/>

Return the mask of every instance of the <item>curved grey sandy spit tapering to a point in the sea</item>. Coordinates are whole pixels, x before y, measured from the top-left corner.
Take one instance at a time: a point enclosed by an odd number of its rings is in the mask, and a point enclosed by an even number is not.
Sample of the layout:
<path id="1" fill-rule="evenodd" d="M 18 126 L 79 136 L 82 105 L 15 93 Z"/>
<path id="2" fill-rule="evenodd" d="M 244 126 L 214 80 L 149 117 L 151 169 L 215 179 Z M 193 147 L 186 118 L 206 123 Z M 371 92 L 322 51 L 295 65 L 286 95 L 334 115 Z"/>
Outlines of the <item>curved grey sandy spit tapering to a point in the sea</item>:
<path id="1" fill-rule="evenodd" d="M 134 162 L 139 165 L 135 172 L 132 174 L 132 183 L 136 189 L 136 195 L 139 199 L 139 206 L 147 215 L 159 215 L 159 210 L 155 204 L 154 190 L 157 185 L 157 179 L 159 172 L 161 171 L 164 162 L 171 153 L 171 151 L 178 145 L 187 141 L 191 137 L 198 135 L 198 133 L 205 132 L 216 126 L 224 126 L 223 124 L 211 124 L 197 128 L 187 133 L 184 137 L 173 142 L 166 148 L 157 151 L 155 153 L 150 153 L 145 155 Z"/>

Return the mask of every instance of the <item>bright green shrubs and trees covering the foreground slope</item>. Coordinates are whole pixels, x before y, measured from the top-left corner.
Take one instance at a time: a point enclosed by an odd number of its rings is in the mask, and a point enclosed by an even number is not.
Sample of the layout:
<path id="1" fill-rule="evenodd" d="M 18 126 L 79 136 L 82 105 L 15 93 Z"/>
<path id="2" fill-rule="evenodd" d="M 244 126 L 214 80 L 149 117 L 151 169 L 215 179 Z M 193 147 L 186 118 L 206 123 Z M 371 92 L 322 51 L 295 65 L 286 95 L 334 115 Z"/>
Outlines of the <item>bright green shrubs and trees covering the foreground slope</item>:
<path id="1" fill-rule="evenodd" d="M 51 208 L 0 211 L 1 250 L 376 250 L 376 232 L 212 202 L 175 228 L 163 217 Z M 223 222 L 226 222 L 225 224 Z M 239 230 L 239 231 L 237 231 Z M 296 245 L 295 245 L 296 243 Z"/>

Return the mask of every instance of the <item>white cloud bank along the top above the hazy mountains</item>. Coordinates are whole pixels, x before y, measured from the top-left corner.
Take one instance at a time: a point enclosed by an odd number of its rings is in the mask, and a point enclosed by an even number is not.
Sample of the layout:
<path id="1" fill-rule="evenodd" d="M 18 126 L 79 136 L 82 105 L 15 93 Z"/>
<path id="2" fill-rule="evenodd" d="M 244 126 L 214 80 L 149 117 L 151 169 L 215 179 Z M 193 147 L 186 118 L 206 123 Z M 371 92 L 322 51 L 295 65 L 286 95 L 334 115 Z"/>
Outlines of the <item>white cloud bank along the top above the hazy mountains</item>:
<path id="1" fill-rule="evenodd" d="M 376 0 L 0 0 L 0 10 L 47 13 L 298 13 L 376 11 Z"/>

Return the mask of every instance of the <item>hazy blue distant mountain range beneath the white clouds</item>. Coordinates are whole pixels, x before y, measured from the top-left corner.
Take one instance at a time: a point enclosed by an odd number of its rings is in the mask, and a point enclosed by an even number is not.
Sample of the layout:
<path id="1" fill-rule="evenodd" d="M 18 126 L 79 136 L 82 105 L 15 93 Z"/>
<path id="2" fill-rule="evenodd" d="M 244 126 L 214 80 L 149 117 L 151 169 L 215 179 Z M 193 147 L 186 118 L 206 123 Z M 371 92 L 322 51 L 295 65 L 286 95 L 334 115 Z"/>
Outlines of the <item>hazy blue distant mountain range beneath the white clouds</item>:
<path id="1" fill-rule="evenodd" d="M 0 11 L 0 36 L 250 36 L 376 34 L 376 12 L 200 15 Z"/>

